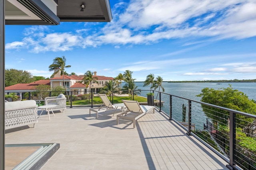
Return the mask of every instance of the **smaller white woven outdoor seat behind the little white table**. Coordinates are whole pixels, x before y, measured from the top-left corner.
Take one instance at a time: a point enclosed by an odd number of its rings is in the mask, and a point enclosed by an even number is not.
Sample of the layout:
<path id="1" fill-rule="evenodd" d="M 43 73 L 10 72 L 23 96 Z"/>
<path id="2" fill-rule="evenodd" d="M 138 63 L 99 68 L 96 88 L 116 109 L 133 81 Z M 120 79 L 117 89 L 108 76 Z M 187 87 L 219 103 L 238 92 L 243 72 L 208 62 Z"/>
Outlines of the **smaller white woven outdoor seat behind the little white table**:
<path id="1" fill-rule="evenodd" d="M 52 107 L 52 111 L 55 110 L 64 110 L 67 108 L 66 106 L 67 98 L 64 94 L 60 94 L 57 97 L 46 97 L 44 99 L 44 105 L 56 105 L 56 107 Z"/>

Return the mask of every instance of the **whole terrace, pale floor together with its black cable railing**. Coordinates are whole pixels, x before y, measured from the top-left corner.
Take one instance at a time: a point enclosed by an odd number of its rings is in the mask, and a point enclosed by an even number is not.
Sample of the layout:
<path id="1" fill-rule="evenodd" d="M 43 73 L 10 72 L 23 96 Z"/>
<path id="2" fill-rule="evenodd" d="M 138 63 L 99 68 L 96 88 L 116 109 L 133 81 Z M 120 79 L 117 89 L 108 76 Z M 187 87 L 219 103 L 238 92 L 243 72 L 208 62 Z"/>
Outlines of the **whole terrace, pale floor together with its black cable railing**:
<path id="1" fill-rule="evenodd" d="M 255 115 L 162 92 L 158 99 L 156 113 L 138 119 L 136 129 L 129 121 L 116 125 L 114 111 L 95 119 L 89 109 L 98 105 L 76 107 L 71 100 L 50 121 L 41 116 L 36 128 L 6 131 L 5 143 L 60 144 L 42 169 L 256 168 L 255 151 L 246 146 L 247 139 L 256 144 Z"/>

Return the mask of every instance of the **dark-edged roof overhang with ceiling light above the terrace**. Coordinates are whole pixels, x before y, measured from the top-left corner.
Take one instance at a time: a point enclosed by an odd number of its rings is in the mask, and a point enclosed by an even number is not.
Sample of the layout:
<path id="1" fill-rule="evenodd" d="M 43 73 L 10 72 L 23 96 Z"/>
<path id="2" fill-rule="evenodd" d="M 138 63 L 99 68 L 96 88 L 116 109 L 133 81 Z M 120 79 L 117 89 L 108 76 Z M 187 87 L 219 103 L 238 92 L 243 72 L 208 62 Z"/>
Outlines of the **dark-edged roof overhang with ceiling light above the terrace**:
<path id="1" fill-rule="evenodd" d="M 81 10 L 81 5 L 85 8 Z M 58 25 L 68 22 L 109 22 L 109 0 L 5 0 L 6 25 Z"/>

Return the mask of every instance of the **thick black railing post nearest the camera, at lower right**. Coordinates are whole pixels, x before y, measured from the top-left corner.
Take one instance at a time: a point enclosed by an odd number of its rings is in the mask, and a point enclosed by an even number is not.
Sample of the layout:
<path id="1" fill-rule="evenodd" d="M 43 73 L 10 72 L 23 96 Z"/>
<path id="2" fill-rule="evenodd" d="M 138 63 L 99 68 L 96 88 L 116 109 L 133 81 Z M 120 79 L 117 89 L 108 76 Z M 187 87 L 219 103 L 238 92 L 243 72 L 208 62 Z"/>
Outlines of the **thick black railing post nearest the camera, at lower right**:
<path id="1" fill-rule="evenodd" d="M 227 167 L 234 169 L 236 155 L 236 114 L 232 111 L 229 112 L 230 131 L 229 131 L 229 165 Z"/>

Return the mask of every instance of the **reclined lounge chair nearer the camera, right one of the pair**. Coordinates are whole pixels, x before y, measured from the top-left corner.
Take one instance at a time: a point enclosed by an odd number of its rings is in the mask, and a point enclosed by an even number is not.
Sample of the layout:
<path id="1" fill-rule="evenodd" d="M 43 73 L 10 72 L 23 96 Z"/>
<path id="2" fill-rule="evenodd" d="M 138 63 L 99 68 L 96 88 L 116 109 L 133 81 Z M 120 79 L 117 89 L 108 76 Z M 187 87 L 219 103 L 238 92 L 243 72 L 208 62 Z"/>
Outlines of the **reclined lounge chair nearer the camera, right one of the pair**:
<path id="1" fill-rule="evenodd" d="M 124 113 L 116 115 L 116 124 L 119 124 L 119 118 L 129 120 L 133 122 L 133 128 L 135 128 L 136 120 L 145 115 L 148 111 L 155 113 L 154 106 L 140 105 L 138 101 L 134 100 L 122 100 L 127 110 Z"/>

